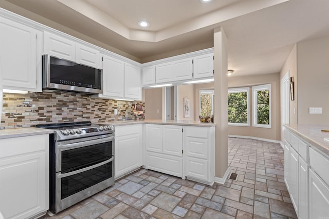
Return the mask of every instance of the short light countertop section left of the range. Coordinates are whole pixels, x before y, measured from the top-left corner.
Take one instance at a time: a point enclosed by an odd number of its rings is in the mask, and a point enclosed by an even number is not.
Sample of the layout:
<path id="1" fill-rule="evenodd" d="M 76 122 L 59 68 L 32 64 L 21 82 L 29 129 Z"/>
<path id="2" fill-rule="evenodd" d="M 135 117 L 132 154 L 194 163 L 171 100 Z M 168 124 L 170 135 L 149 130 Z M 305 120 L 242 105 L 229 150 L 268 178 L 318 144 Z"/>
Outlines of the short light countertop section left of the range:
<path id="1" fill-rule="evenodd" d="M 51 129 L 41 129 L 41 128 L 34 128 L 34 127 L 3 129 L 3 130 L 0 130 L 0 139 L 39 135 L 39 134 L 51 134 L 51 133 L 53 133 L 53 130 L 51 130 Z"/>

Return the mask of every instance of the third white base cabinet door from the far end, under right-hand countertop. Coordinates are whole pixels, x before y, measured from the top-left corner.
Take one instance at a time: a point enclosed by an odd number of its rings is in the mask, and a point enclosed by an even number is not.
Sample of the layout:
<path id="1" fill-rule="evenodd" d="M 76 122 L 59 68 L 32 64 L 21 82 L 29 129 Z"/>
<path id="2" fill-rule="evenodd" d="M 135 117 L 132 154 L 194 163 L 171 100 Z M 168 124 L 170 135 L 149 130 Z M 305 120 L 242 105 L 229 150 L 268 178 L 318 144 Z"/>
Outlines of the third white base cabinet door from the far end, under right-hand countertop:
<path id="1" fill-rule="evenodd" d="M 308 218 L 308 165 L 301 158 L 299 158 L 299 186 L 298 186 L 298 197 L 299 197 L 299 219 Z"/>

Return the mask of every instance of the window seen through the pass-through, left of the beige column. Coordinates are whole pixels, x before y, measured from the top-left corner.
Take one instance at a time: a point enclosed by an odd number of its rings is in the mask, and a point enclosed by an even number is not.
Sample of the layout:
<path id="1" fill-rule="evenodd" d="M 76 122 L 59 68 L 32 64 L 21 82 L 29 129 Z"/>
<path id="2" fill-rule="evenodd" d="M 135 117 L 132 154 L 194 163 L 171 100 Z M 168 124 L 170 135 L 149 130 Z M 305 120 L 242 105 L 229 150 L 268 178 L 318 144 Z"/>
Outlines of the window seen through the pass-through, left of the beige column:
<path id="1" fill-rule="evenodd" d="M 199 115 L 213 115 L 214 114 L 214 90 L 200 90 L 200 109 Z"/>

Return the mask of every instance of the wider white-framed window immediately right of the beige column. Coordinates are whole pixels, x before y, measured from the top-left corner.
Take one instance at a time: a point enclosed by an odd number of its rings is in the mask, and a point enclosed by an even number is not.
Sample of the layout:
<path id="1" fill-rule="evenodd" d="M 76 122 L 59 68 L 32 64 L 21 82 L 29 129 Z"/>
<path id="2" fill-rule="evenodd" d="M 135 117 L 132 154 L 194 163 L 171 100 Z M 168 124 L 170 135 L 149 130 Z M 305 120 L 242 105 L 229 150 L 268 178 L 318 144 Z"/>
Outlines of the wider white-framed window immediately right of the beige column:
<path id="1" fill-rule="evenodd" d="M 249 126 L 249 88 L 228 89 L 228 124 Z"/>

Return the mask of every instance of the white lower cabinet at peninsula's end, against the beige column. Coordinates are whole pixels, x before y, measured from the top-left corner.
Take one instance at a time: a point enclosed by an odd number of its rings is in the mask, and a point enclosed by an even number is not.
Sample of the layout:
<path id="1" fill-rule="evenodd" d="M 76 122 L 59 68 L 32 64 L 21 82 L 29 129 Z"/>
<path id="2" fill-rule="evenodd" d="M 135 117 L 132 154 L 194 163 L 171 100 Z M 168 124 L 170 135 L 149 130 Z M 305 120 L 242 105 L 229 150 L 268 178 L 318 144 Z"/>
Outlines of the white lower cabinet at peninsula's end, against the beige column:
<path id="1" fill-rule="evenodd" d="M 214 127 L 184 126 L 185 176 L 206 184 L 214 181 Z"/>

